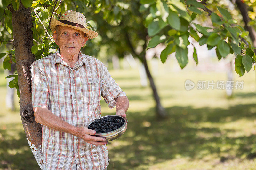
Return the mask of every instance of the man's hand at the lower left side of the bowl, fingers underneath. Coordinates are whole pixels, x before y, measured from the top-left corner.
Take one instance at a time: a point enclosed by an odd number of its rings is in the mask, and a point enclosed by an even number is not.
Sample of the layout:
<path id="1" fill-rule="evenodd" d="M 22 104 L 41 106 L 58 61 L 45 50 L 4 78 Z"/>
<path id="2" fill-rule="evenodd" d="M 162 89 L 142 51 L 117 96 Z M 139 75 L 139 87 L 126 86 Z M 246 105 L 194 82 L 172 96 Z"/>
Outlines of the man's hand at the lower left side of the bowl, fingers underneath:
<path id="1" fill-rule="evenodd" d="M 108 144 L 105 138 L 103 137 L 95 137 L 92 135 L 95 135 L 96 131 L 92 129 L 88 129 L 86 127 L 78 127 L 77 128 L 77 137 L 83 139 L 85 142 L 94 144 L 94 145 L 104 145 Z"/>

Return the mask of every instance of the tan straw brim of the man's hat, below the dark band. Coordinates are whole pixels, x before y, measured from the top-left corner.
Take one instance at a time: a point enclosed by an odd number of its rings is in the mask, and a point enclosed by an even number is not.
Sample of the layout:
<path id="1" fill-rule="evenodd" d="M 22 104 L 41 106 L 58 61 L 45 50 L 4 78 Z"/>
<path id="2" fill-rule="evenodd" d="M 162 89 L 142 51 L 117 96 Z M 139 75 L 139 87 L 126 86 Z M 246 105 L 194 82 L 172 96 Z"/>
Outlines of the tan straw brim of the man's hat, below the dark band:
<path id="1" fill-rule="evenodd" d="M 89 30 L 87 28 L 80 28 L 80 27 L 77 27 L 77 26 L 71 26 L 71 25 L 68 25 L 68 24 L 64 24 L 64 23 L 58 21 L 57 19 L 55 19 L 54 17 L 52 17 L 51 23 L 50 23 L 50 29 L 53 33 L 56 33 L 56 26 L 68 26 L 70 28 L 74 28 L 76 30 L 82 31 L 86 34 L 86 37 L 88 37 L 88 39 L 95 38 L 98 35 L 98 33 L 95 32 L 95 31 Z"/>

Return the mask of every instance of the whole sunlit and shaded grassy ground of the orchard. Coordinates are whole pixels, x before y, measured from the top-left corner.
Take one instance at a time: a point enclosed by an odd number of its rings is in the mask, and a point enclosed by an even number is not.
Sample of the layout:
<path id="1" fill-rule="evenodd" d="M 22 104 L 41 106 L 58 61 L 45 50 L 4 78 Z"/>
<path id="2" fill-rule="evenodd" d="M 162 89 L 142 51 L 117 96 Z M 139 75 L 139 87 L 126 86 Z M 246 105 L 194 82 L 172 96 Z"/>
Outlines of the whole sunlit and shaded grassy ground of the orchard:
<path id="1" fill-rule="evenodd" d="M 184 87 L 187 79 L 226 80 L 224 72 L 175 72 L 160 65 L 155 82 L 168 113 L 164 120 L 156 119 L 151 89 L 140 86 L 137 69 L 110 72 L 130 107 L 127 131 L 108 144 L 108 169 L 256 169 L 255 72 L 235 76 L 244 87 L 227 99 L 225 90 Z M 5 80 L 0 80 L 0 169 L 38 169 L 19 111 L 5 109 Z M 115 112 L 104 101 L 101 105 L 102 115 Z"/>

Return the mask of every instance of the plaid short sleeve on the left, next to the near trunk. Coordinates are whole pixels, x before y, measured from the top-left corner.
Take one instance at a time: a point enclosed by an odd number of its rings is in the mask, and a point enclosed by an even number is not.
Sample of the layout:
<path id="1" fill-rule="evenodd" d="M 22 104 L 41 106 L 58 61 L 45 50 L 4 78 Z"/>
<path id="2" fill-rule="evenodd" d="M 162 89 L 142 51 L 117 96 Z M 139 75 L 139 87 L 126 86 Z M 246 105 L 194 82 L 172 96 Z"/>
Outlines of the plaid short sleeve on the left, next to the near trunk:
<path id="1" fill-rule="evenodd" d="M 33 107 L 48 107 L 50 99 L 48 85 L 44 74 L 35 64 L 31 64 L 31 82 Z"/>

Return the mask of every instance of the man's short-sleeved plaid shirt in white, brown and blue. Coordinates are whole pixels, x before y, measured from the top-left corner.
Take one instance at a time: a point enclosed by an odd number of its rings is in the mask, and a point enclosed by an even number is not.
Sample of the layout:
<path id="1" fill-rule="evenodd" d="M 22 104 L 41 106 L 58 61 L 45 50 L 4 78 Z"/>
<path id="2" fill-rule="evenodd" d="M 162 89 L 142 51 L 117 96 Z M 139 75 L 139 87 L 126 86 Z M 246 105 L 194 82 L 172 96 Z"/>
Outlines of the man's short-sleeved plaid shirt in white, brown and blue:
<path id="1" fill-rule="evenodd" d="M 81 127 L 99 118 L 103 96 L 110 108 L 114 98 L 125 92 L 99 60 L 79 52 L 73 68 L 59 54 L 48 55 L 31 64 L 34 107 L 48 107 L 69 124 Z M 69 133 L 42 125 L 45 169 L 105 169 L 109 164 L 106 145 L 95 146 Z"/>

